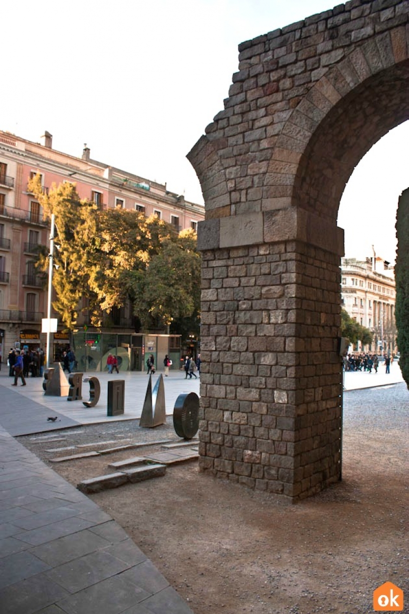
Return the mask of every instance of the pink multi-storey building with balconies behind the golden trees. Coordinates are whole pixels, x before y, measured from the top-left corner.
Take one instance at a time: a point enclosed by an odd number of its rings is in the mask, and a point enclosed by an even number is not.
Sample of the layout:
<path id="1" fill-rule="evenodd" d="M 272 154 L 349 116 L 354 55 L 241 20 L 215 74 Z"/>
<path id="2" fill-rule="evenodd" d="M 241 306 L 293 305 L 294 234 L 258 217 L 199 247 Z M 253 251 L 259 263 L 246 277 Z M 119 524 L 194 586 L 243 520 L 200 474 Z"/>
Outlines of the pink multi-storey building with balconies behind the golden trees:
<path id="1" fill-rule="evenodd" d="M 185 228 L 196 230 L 197 223 L 204 219 L 204 206 L 169 192 L 166 184 L 93 160 L 86 146 L 82 156 L 77 158 L 54 150 L 52 135 L 48 132 L 39 143 L 35 143 L 0 131 L 2 362 L 6 362 L 9 349 L 18 344 L 29 348 L 45 347 L 41 321 L 47 317 L 47 279 L 36 270 L 34 260 L 42 246 L 49 249 L 50 228 L 48 220 L 43 219 L 40 204 L 28 190 L 29 180 L 38 175 L 44 192 L 48 192 L 53 183 L 75 183 L 80 198 L 93 201 L 101 210 L 121 207 L 143 212 L 147 217 L 155 214 L 179 231 Z M 52 313 L 52 317 L 58 318 L 58 315 Z M 90 330 L 86 319 L 78 321 L 82 331 L 78 333 L 78 343 L 84 348 L 85 366 L 96 363 L 101 367 L 107 349 L 114 347 L 126 349 L 122 353 L 127 368 L 142 368 L 145 346 L 147 351 L 151 348 L 156 363 L 162 354 L 176 357 L 180 340 L 160 334 L 145 338 L 136 331 L 134 322 L 130 306 L 113 310 L 102 331 Z M 107 343 L 105 335 L 112 336 Z M 62 349 L 71 341 L 62 330 L 55 333 L 52 359 L 58 359 Z M 97 352 L 95 357 L 93 352 Z"/>

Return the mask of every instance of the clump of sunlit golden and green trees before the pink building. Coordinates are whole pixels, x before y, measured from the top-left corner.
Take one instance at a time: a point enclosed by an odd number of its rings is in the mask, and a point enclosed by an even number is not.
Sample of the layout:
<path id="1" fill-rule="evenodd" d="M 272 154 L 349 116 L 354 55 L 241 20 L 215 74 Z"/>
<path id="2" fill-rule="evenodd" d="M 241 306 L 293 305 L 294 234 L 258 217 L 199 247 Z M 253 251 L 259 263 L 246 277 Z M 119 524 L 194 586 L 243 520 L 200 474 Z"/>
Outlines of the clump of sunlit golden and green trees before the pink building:
<path id="1" fill-rule="evenodd" d="M 94 326 L 113 308 L 131 301 L 145 328 L 164 328 L 186 318 L 199 318 L 201 259 L 196 233 L 178 235 L 157 216 L 126 209 L 99 211 L 80 200 L 75 184 L 53 185 L 44 193 L 40 178 L 29 185 L 44 216 L 55 216 L 56 240 L 53 307 L 64 325 L 77 324 L 78 305 L 88 299 Z M 46 254 L 37 268 L 48 270 Z"/>

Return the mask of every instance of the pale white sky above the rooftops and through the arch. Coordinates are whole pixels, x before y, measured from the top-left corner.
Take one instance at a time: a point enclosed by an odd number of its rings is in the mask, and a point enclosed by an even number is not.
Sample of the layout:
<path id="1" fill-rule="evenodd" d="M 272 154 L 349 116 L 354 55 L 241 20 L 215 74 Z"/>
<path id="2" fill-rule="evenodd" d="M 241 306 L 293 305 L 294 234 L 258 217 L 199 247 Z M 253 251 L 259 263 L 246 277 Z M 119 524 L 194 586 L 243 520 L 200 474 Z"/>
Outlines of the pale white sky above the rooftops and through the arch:
<path id="1" fill-rule="evenodd" d="M 202 203 L 186 154 L 222 111 L 238 45 L 331 0 L 37 0 L 2 6 L 0 129 L 130 171 Z M 409 186 L 409 122 L 354 171 L 340 206 L 346 255 L 395 257 Z M 362 168 L 361 168 L 362 167 Z M 390 167 L 390 168 L 387 168 Z M 359 251 L 359 253 L 358 253 Z"/>

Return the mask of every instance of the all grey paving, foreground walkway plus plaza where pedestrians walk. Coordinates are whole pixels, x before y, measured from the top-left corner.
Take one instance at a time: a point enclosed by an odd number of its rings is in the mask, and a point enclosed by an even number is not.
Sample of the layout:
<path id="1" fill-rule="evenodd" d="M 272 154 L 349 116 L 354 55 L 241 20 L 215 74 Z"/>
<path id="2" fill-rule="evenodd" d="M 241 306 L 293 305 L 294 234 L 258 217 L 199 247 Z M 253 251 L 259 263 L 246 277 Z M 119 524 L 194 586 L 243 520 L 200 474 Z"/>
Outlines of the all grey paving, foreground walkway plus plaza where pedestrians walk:
<path id="1" fill-rule="evenodd" d="M 101 383 L 93 408 L 46 397 L 42 378 L 11 387 L 0 371 L 0 612 L 2 614 L 193 614 L 188 604 L 113 519 L 14 438 L 82 424 L 140 418 L 146 373 L 87 373 Z M 152 377 L 152 387 L 159 373 Z M 124 414 L 107 416 L 107 382 L 124 381 Z M 182 371 L 163 378 L 166 414 L 199 379 Z M 386 374 L 347 372 L 345 392 L 403 381 L 397 363 Z M 83 400 L 88 400 L 83 383 Z M 47 420 L 56 417 L 55 422 Z"/>

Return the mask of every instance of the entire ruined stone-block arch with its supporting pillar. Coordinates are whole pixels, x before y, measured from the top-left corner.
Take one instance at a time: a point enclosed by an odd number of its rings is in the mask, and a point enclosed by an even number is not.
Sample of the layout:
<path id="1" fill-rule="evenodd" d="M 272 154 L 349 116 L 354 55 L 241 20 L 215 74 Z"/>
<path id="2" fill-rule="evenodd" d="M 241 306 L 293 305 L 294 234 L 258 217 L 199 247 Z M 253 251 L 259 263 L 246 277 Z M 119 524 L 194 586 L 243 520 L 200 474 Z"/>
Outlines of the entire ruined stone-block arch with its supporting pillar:
<path id="1" fill-rule="evenodd" d="M 351 0 L 239 45 L 201 182 L 202 471 L 291 500 L 341 472 L 340 198 L 409 118 L 409 8 Z"/>

